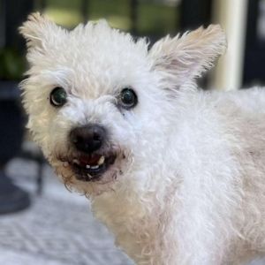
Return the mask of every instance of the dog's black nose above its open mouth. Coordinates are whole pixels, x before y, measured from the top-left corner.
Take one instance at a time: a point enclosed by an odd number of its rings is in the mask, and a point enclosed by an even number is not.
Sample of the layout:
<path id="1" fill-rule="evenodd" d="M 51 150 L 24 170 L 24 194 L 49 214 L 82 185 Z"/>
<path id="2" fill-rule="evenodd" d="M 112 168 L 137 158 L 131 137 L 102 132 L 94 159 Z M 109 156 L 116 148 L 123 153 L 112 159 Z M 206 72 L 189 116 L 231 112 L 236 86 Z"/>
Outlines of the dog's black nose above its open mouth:
<path id="1" fill-rule="evenodd" d="M 106 137 L 106 130 L 100 125 L 87 125 L 77 127 L 70 133 L 72 144 L 79 150 L 88 154 L 102 147 Z"/>

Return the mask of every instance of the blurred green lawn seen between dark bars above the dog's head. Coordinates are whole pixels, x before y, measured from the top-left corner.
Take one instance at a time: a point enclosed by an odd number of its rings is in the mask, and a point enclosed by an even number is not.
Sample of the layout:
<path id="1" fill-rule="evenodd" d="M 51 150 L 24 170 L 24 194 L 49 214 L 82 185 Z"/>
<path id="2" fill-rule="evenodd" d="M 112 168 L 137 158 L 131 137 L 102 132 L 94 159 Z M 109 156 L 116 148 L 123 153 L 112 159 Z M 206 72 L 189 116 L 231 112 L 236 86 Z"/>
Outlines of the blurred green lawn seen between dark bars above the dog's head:
<path id="1" fill-rule="evenodd" d="M 80 0 L 48 0 L 46 13 L 64 27 L 75 27 L 82 22 Z M 112 27 L 125 31 L 132 28 L 130 0 L 90 0 L 87 6 L 89 19 L 107 19 Z M 161 36 L 177 29 L 176 6 L 157 1 L 139 1 L 137 10 L 137 32 L 140 35 Z"/>

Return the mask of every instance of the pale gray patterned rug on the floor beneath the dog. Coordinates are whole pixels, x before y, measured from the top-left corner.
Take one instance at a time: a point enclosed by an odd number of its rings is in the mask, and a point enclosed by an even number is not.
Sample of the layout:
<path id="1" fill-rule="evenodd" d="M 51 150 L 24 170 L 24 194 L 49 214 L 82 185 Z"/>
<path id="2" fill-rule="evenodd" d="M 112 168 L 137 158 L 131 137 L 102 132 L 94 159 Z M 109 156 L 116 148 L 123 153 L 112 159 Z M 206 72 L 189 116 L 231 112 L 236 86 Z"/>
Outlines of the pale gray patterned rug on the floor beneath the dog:
<path id="1" fill-rule="evenodd" d="M 35 164 L 14 160 L 8 172 L 32 194 L 31 208 L 0 216 L 0 264 L 129 265 L 114 239 L 92 216 L 85 197 L 72 194 L 45 167 L 42 196 L 34 195 Z"/>

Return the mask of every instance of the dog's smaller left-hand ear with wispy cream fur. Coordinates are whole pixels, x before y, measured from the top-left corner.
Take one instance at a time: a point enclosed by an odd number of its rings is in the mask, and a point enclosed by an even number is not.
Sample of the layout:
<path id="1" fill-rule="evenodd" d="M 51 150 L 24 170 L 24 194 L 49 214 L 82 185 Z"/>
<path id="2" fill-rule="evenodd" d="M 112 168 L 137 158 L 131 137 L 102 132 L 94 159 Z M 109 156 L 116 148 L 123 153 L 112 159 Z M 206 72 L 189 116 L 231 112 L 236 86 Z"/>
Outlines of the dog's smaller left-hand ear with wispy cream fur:
<path id="1" fill-rule="evenodd" d="M 37 49 L 39 52 L 47 49 L 47 43 L 53 42 L 58 31 L 61 30 L 53 21 L 39 12 L 29 15 L 27 21 L 19 27 L 19 33 L 27 41 L 28 50 Z"/>

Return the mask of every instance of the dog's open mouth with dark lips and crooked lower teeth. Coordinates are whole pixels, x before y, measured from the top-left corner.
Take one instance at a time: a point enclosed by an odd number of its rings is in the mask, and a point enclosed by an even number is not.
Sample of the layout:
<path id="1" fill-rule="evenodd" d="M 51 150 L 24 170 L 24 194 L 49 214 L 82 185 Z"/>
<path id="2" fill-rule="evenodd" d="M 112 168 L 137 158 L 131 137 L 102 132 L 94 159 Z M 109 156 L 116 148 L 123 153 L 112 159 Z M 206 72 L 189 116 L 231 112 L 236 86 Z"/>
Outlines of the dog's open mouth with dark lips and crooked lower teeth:
<path id="1" fill-rule="evenodd" d="M 102 178 L 102 175 L 110 169 L 115 163 L 117 155 L 79 155 L 68 161 L 75 173 L 76 178 L 82 181 L 96 181 Z"/>

